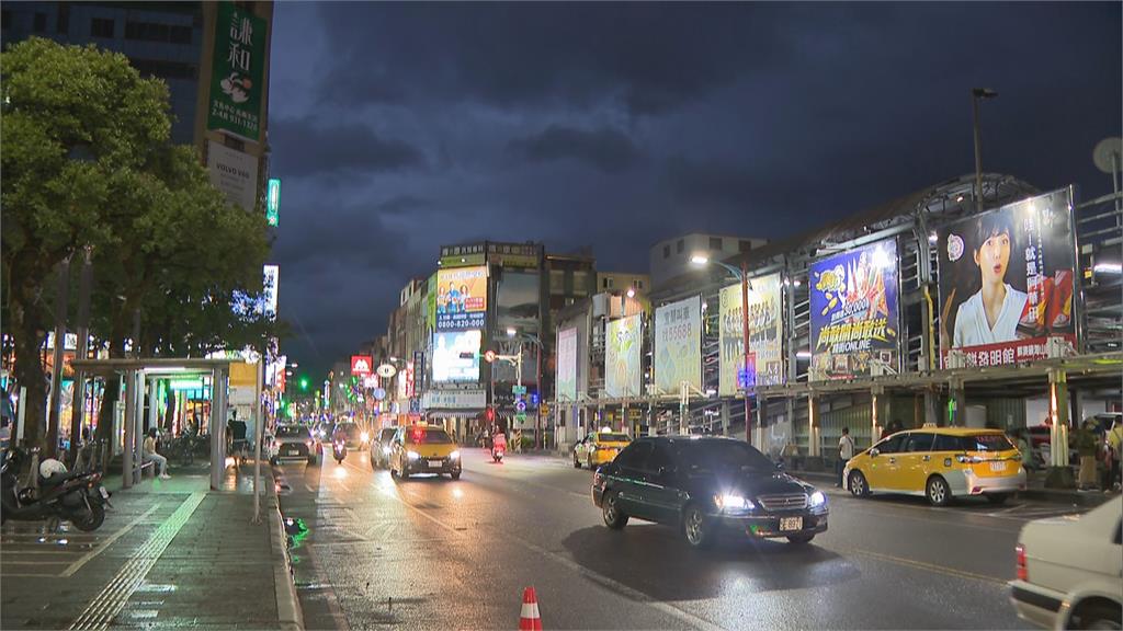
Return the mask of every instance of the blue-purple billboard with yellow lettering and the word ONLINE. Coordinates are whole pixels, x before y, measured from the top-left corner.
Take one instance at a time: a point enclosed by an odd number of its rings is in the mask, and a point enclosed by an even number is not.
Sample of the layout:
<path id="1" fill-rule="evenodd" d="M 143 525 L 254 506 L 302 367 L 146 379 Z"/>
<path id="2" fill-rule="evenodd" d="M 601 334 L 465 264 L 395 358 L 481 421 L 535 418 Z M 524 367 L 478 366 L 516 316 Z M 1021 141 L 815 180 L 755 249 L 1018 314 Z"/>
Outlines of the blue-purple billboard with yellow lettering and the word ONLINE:
<path id="1" fill-rule="evenodd" d="M 897 244 L 855 248 L 810 269 L 811 379 L 897 369 Z"/>

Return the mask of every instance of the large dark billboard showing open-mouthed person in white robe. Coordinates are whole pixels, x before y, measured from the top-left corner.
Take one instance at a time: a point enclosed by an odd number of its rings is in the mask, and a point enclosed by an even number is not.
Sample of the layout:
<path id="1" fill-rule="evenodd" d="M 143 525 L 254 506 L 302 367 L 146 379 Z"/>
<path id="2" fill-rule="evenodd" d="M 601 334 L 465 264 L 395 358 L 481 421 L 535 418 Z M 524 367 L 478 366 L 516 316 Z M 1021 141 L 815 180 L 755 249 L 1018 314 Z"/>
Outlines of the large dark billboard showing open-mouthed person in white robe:
<path id="1" fill-rule="evenodd" d="M 1070 188 L 946 226 L 938 248 L 944 367 L 1041 359 L 1050 338 L 1076 348 Z"/>

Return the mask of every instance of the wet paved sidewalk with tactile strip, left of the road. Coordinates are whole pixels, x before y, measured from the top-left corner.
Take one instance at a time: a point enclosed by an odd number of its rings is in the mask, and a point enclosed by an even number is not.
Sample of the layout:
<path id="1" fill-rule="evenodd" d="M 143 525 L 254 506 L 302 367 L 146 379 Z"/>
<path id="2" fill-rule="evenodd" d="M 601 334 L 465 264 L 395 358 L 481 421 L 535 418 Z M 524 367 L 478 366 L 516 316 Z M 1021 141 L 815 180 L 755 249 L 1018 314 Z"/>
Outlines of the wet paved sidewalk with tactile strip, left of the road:
<path id="1" fill-rule="evenodd" d="M 300 629 L 272 469 L 262 468 L 262 520 L 253 523 L 253 468 L 172 469 L 128 491 L 95 532 L 38 522 L 0 531 L 3 629 Z"/>

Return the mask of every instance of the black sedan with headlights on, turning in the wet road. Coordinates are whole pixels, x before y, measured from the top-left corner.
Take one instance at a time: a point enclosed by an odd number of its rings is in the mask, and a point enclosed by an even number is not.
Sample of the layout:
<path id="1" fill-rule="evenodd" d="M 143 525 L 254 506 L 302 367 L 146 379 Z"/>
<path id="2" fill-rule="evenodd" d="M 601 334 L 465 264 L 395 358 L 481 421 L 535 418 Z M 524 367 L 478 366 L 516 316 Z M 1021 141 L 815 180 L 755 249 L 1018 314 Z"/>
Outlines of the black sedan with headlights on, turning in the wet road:
<path id="1" fill-rule="evenodd" d="M 593 502 L 609 528 L 621 529 L 629 518 L 665 523 L 695 548 L 721 530 L 793 543 L 827 530 L 823 492 L 729 438 L 638 439 L 596 470 Z"/>

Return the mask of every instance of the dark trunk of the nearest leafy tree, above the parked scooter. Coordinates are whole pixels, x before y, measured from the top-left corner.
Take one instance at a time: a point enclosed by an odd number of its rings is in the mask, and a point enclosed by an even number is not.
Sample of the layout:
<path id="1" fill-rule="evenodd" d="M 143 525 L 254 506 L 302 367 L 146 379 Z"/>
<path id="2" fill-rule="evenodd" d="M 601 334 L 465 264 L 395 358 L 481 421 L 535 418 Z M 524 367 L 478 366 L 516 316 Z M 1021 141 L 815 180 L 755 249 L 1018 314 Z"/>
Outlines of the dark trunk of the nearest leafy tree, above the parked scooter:
<path id="1" fill-rule="evenodd" d="M 15 287 L 13 287 L 15 289 Z M 19 400 L 24 412 L 24 441 L 28 447 L 43 443 L 43 421 L 47 408 L 47 383 L 40 350 L 46 340 L 43 329 L 44 313 L 36 302 L 34 290 L 26 285 L 13 291 L 10 303 L 11 333 L 16 342 L 16 381 L 27 388 Z"/>

